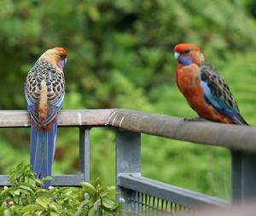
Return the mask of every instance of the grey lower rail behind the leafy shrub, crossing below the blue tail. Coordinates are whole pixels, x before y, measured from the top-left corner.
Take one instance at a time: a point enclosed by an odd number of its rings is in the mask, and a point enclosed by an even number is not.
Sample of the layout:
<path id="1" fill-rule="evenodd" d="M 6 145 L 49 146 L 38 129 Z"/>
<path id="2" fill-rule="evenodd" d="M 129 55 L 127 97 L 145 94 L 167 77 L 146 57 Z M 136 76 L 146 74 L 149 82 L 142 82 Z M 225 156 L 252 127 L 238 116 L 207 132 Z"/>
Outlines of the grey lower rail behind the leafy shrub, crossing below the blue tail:
<path id="1" fill-rule="evenodd" d="M 84 181 L 83 174 L 65 174 L 65 175 L 53 175 L 53 179 L 55 179 L 51 185 L 55 186 L 70 186 L 74 185 L 74 183 Z M 9 175 L 1 175 L 0 176 L 0 185 L 11 185 L 9 182 Z"/>

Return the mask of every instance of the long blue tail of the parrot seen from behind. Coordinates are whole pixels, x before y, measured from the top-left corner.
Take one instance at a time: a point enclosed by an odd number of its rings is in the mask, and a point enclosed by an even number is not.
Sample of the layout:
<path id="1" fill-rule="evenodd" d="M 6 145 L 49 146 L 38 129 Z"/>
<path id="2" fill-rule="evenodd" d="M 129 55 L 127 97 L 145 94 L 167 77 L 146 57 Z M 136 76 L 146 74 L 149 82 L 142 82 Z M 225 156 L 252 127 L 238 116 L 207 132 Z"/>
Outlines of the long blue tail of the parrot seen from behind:
<path id="1" fill-rule="evenodd" d="M 43 179 L 51 176 L 52 163 L 55 156 L 55 140 L 57 134 L 57 122 L 45 131 L 38 131 L 33 125 L 30 136 L 30 164 L 36 178 Z M 44 182 L 44 188 L 48 189 L 51 181 Z"/>

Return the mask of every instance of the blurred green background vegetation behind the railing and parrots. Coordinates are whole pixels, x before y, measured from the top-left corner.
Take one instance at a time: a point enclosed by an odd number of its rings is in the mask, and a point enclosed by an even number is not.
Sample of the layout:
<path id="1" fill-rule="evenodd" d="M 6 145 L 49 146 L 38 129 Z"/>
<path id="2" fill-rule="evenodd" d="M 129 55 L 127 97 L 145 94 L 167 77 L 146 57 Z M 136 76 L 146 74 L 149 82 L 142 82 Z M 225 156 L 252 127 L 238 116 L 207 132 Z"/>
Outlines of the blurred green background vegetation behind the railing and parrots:
<path id="1" fill-rule="evenodd" d="M 44 50 L 62 46 L 68 51 L 63 109 L 196 117 L 174 82 L 172 48 L 187 42 L 202 48 L 255 125 L 255 18 L 253 0 L 2 0 L 0 109 L 26 109 L 27 72 Z M 114 184 L 113 131 L 95 128 L 91 136 L 91 176 Z M 77 172 L 78 138 L 78 129 L 59 129 L 55 173 Z M 0 146 L 1 173 L 27 163 L 29 128 L 1 129 Z M 143 175 L 230 196 L 230 154 L 220 148 L 143 135 Z"/>

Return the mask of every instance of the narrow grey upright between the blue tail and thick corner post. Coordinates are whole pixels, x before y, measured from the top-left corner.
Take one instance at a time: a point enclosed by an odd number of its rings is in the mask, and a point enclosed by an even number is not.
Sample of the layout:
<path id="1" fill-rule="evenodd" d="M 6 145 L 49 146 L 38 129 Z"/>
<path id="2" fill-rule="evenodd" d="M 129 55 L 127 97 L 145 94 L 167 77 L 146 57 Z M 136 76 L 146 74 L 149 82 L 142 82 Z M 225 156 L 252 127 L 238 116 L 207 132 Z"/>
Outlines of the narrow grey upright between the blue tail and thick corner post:
<path id="1" fill-rule="evenodd" d="M 84 181 L 90 180 L 90 128 L 79 128 L 79 170 Z"/>

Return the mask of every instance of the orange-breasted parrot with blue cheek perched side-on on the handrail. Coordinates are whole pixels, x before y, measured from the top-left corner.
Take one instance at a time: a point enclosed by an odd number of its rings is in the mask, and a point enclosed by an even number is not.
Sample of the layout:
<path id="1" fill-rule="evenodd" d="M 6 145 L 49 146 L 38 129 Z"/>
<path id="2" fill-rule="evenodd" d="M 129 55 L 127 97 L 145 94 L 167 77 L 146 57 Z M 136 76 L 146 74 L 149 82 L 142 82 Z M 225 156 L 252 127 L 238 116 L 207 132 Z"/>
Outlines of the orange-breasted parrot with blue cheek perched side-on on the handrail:
<path id="1" fill-rule="evenodd" d="M 177 87 L 200 117 L 213 122 L 247 125 L 230 88 L 207 63 L 200 48 L 180 43 L 174 48 Z"/>

